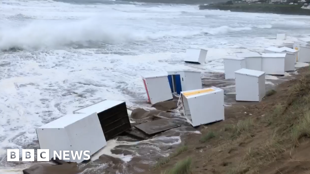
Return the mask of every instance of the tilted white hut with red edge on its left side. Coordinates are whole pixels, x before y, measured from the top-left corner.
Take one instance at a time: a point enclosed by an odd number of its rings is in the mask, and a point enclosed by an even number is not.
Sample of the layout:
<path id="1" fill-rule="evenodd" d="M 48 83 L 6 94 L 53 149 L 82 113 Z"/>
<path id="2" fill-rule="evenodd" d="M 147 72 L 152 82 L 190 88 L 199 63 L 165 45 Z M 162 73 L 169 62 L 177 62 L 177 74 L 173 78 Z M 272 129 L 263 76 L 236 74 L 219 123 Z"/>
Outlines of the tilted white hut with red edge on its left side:
<path id="1" fill-rule="evenodd" d="M 148 94 L 148 102 L 155 104 L 171 100 L 173 98 L 168 75 L 147 75 L 142 76 L 146 93 Z"/>

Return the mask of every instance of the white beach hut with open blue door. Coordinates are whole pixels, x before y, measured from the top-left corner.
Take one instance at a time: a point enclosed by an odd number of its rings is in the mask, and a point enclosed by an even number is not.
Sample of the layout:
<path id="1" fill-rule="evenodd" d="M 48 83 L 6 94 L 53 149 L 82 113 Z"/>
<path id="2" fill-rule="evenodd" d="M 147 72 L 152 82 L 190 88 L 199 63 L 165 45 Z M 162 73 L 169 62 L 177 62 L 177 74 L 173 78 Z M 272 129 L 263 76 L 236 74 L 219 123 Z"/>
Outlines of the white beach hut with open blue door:
<path id="1" fill-rule="evenodd" d="M 172 93 L 201 89 L 201 72 L 198 71 L 168 71 L 168 80 Z"/>

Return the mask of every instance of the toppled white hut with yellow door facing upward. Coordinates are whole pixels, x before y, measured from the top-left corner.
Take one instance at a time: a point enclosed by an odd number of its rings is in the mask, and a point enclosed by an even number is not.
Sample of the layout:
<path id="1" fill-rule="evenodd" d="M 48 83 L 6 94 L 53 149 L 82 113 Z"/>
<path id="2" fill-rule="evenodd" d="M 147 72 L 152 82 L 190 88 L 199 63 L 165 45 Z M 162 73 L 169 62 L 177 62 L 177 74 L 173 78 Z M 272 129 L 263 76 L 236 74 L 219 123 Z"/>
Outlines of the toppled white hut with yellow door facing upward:
<path id="1" fill-rule="evenodd" d="M 183 113 L 194 127 L 224 120 L 224 90 L 216 87 L 181 92 Z"/>

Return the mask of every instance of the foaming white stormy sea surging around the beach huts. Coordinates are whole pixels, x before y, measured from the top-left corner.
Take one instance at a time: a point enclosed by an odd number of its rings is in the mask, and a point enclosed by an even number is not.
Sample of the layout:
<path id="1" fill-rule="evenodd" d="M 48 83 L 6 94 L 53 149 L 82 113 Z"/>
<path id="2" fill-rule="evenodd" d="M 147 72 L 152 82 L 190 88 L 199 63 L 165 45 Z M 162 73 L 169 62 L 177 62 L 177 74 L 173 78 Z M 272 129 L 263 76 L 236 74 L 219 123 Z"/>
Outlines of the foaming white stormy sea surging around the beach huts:
<path id="1" fill-rule="evenodd" d="M 35 128 L 78 107 L 103 99 L 150 107 L 140 75 L 223 72 L 222 58 L 279 46 L 276 33 L 307 37 L 309 27 L 309 16 L 190 5 L 1 0 L 0 169 L 16 168 L 6 149 L 38 147 Z M 186 48 L 209 50 L 207 63 L 183 63 Z"/>

